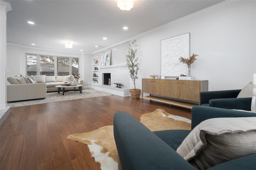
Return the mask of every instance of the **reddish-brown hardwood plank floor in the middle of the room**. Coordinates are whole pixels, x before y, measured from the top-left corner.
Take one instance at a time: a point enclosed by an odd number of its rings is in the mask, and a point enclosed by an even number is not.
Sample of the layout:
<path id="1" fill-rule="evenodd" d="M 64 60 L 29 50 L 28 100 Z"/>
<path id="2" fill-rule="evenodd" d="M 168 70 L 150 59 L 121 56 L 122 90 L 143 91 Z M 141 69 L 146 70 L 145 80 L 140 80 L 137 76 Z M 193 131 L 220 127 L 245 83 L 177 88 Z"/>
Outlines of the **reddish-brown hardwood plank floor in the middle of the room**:
<path id="1" fill-rule="evenodd" d="M 157 108 L 191 119 L 188 109 L 115 95 L 12 107 L 0 127 L 0 169 L 98 170 L 87 145 L 66 137 L 112 125 L 117 111 L 139 120 Z"/>

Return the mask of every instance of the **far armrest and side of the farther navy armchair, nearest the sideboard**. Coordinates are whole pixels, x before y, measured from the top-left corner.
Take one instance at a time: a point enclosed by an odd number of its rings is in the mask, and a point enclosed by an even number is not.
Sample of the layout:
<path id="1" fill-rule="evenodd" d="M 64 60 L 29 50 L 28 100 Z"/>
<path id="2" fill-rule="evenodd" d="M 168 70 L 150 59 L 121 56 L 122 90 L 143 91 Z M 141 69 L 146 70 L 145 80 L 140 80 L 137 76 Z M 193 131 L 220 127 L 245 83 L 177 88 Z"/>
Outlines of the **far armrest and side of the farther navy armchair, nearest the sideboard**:
<path id="1" fill-rule="evenodd" d="M 236 98 L 240 93 L 240 90 L 221 90 L 221 91 L 210 91 L 210 92 L 200 92 L 200 105 L 209 104 L 211 99 L 221 99 L 221 98 Z"/>

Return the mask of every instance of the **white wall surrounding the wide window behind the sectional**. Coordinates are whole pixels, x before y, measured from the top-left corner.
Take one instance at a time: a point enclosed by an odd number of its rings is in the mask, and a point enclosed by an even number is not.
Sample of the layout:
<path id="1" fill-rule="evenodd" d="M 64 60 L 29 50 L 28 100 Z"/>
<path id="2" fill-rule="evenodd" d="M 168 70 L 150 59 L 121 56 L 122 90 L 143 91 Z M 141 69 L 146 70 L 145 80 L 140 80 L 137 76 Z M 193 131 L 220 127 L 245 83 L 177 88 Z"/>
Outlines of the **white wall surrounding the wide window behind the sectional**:
<path id="1" fill-rule="evenodd" d="M 84 80 L 84 54 L 83 53 L 68 53 L 63 51 L 51 51 L 47 49 L 37 49 L 23 47 L 16 44 L 7 44 L 7 76 L 26 75 L 26 53 L 40 55 L 55 55 L 60 57 L 76 57 L 79 58 L 79 73 L 81 80 Z M 89 56 L 91 58 L 91 56 Z"/>

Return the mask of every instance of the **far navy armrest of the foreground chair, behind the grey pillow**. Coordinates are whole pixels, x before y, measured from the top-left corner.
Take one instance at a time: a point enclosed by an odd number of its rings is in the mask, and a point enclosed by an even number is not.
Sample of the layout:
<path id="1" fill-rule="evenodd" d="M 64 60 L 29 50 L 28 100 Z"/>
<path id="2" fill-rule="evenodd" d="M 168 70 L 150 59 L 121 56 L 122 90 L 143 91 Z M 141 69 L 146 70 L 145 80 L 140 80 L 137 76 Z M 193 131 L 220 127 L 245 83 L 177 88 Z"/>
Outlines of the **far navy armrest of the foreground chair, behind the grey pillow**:
<path id="1" fill-rule="evenodd" d="M 194 106 L 191 109 L 191 129 L 194 129 L 194 127 L 206 119 L 216 117 L 256 117 L 256 113 L 218 107 Z"/>

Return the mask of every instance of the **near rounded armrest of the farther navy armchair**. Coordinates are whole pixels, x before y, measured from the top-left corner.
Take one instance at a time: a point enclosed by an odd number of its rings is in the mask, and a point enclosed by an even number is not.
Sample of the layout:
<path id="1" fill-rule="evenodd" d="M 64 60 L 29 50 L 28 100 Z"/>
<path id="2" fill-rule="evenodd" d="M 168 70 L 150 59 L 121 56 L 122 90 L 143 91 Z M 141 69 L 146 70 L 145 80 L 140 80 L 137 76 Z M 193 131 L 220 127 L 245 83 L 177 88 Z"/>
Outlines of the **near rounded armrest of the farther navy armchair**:
<path id="1" fill-rule="evenodd" d="M 251 110 L 252 98 L 229 98 L 229 99 L 212 99 L 209 104 L 212 107 L 224 109 L 241 109 Z"/>

